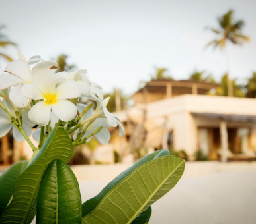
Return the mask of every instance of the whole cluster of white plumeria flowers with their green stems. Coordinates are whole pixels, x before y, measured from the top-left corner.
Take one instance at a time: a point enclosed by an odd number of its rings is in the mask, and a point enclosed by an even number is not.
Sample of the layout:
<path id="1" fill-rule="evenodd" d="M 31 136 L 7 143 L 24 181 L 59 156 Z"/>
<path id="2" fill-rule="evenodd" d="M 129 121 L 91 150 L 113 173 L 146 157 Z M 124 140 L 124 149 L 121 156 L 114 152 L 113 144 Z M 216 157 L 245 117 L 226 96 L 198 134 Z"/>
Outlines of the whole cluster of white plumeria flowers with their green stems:
<path id="1" fill-rule="evenodd" d="M 39 56 L 28 61 L 22 53 L 0 74 L 0 137 L 13 128 L 15 140 L 38 140 L 40 148 L 55 126 L 64 126 L 77 146 L 93 136 L 102 144 L 110 140 L 107 128 L 119 126 L 119 119 L 107 110 L 109 98 L 103 99 L 101 86 L 90 82 L 87 70 L 58 72 L 56 61 L 44 61 Z M 33 66 L 33 64 L 35 64 Z M 89 105 L 79 101 L 95 102 Z M 92 107 L 95 104 L 95 111 Z"/>

